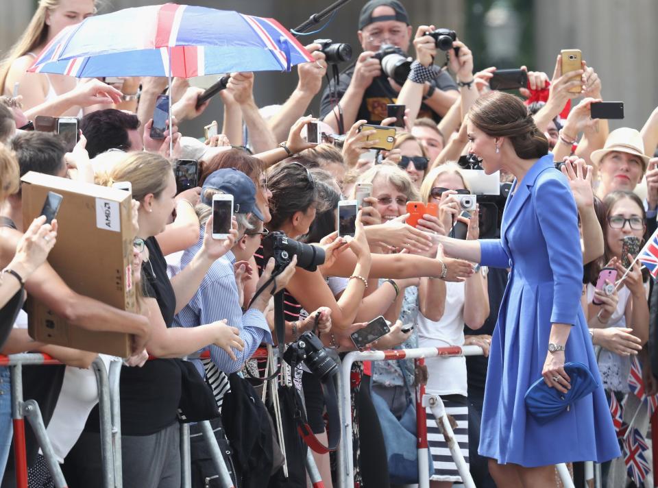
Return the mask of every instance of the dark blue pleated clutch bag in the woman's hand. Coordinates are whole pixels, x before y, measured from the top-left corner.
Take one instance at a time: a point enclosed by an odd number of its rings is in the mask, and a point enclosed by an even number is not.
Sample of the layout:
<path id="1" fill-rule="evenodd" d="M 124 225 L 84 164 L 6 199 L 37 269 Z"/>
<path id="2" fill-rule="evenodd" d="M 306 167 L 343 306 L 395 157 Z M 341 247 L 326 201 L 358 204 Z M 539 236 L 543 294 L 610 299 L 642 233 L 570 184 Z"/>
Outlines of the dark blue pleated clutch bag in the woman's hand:
<path id="1" fill-rule="evenodd" d="M 549 387 L 544 378 L 539 378 L 526 391 L 526 408 L 539 424 L 546 424 L 598 388 L 594 376 L 583 363 L 565 363 L 564 370 L 571 378 L 571 389 L 567 393 Z"/>

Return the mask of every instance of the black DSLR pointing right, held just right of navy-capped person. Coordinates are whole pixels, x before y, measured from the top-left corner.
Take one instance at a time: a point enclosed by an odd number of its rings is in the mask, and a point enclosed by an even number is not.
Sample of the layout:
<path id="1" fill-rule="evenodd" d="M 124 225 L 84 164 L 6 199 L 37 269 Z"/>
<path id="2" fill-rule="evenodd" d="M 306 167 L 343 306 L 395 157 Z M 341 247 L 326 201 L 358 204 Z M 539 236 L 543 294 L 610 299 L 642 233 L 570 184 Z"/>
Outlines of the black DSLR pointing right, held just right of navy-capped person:
<path id="1" fill-rule="evenodd" d="M 324 249 L 310 244 L 304 244 L 290 239 L 283 232 L 270 232 L 263 239 L 263 263 L 274 258 L 273 275 L 283 271 L 297 256 L 297 267 L 306 271 L 315 271 L 319 265 L 324 265 Z"/>

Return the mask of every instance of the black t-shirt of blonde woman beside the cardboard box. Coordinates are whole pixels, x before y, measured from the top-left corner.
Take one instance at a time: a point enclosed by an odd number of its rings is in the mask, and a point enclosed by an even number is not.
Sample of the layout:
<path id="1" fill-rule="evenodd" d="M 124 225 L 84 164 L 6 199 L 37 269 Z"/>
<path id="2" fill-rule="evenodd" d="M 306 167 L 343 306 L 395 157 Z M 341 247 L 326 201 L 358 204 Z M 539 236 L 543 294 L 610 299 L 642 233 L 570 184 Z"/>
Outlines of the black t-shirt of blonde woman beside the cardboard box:
<path id="1" fill-rule="evenodd" d="M 167 327 L 173 323 L 176 296 L 167 276 L 167 263 L 154 237 L 146 240 L 149 261 L 142 265 L 142 283 L 147 297 L 158 300 Z M 121 433 L 151 435 L 177 421 L 180 402 L 180 367 L 172 359 L 154 359 L 143 367 L 121 369 Z M 98 432 L 98 406 L 87 422 L 88 430 Z"/>

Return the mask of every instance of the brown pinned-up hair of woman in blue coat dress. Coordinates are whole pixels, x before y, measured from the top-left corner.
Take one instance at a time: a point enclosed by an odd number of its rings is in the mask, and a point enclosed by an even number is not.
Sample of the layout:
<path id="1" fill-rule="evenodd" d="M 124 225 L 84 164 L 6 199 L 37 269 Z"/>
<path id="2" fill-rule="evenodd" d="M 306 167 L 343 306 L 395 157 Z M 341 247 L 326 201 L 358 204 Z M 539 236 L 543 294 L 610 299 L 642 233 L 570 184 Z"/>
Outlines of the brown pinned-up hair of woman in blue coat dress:
<path id="1" fill-rule="evenodd" d="M 537 129 L 521 99 L 514 95 L 488 93 L 476 100 L 468 117 L 487 136 L 508 138 L 521 159 L 537 159 L 548 154 L 546 136 Z"/>

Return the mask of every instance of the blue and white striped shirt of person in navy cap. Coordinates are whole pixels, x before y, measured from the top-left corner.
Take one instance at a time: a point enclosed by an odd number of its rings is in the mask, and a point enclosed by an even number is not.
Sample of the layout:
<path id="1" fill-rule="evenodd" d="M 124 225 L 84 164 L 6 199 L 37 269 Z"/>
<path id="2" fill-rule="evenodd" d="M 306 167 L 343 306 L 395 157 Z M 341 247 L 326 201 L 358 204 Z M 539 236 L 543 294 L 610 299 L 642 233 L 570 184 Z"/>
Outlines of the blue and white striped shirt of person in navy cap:
<path id="1" fill-rule="evenodd" d="M 199 241 L 185 251 L 167 256 L 167 273 L 173 277 L 189 265 L 195 254 L 199 252 L 204 242 L 204 228 L 201 228 Z M 239 303 L 238 286 L 235 282 L 233 265 L 236 258 L 229 251 L 225 256 L 212 263 L 208 273 L 201 282 L 192 300 L 175 316 L 175 327 L 195 327 L 199 324 L 227 319 L 228 325 L 240 331 L 240 337 L 245 341 L 242 352 L 234 350 L 237 361 L 216 345 L 210 345 L 210 358 L 217 367 L 226 374 L 242 369 L 245 361 L 254 354 L 260 343 L 272 343 L 272 335 L 265 320 L 265 315 L 257 308 L 249 308 L 243 313 Z M 195 361 L 199 373 L 203 376 L 200 361 Z"/>

